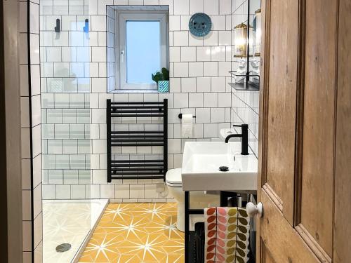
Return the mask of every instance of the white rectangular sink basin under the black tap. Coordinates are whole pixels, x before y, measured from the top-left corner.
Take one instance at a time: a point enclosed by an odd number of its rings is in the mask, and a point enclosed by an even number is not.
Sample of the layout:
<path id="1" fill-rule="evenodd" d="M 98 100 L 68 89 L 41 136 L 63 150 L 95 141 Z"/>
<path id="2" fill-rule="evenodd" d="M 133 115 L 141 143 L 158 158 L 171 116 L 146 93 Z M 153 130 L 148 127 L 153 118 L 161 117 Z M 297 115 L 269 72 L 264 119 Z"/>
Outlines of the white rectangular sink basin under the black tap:
<path id="1" fill-rule="evenodd" d="M 256 191 L 257 159 L 240 152 L 241 142 L 185 142 L 183 191 Z"/>

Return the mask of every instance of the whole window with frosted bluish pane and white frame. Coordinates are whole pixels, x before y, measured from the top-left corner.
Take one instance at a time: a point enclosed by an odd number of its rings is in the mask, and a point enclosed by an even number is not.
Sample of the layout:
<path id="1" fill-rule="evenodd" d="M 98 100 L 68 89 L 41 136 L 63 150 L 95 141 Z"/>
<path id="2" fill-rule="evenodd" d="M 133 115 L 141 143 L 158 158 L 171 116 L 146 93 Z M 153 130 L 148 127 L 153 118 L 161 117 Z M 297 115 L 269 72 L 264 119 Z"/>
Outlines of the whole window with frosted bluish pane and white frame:
<path id="1" fill-rule="evenodd" d="M 119 12 L 117 87 L 157 90 L 151 74 L 168 68 L 168 25 L 165 11 Z"/>

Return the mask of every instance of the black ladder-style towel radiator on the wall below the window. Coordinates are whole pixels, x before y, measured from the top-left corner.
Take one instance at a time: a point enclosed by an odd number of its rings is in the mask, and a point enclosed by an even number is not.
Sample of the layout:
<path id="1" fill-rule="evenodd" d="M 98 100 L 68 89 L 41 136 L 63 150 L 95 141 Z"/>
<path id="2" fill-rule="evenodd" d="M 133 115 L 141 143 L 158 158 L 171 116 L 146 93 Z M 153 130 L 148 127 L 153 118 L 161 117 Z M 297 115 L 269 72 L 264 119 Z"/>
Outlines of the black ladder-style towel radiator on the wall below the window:
<path id="1" fill-rule="evenodd" d="M 163 102 L 111 102 L 107 100 L 107 182 L 112 182 L 114 179 L 165 180 L 168 151 L 167 104 L 167 99 L 164 99 Z M 163 129 L 131 130 L 128 125 L 125 125 L 128 121 L 140 124 L 143 123 L 143 120 L 147 120 L 147 123 L 150 124 L 155 118 L 157 121 L 163 119 L 160 125 L 163 126 Z M 145 124 L 144 127 L 147 125 Z M 138 147 L 163 147 L 163 154 L 159 154 L 158 156 L 162 157 L 157 159 L 146 159 L 145 155 L 143 159 L 140 159 L 137 153 L 129 154 L 128 158 L 114 158 L 114 156 L 119 156 L 115 152 L 124 153 L 123 147 L 129 147 L 127 152 L 131 149 L 138 151 Z M 133 158 L 133 156 L 139 157 Z"/>

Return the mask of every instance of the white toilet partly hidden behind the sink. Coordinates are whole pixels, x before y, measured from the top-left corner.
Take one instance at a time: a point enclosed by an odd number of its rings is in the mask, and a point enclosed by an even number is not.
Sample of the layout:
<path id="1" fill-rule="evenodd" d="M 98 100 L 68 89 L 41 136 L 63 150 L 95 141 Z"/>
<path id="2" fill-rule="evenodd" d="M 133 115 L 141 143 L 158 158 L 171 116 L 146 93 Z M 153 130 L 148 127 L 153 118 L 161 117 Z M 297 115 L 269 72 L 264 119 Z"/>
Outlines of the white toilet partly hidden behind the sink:
<path id="1" fill-rule="evenodd" d="M 169 193 L 178 203 L 177 229 L 184 231 L 184 191 L 182 189 L 182 169 L 170 169 L 166 173 L 166 185 Z M 190 191 L 190 208 L 206 208 L 218 204 L 219 196 L 204 194 L 204 191 Z"/>

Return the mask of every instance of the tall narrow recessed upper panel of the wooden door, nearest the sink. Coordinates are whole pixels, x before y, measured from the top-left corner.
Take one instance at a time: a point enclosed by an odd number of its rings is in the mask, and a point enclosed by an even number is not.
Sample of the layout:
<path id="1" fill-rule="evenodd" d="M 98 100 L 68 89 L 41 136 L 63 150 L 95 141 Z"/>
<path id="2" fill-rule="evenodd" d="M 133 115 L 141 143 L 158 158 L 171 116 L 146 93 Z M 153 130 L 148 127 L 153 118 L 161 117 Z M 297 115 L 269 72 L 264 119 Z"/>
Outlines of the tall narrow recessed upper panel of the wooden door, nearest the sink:
<path id="1" fill-rule="evenodd" d="M 298 46 L 298 1 L 271 0 L 269 88 L 267 99 L 267 182 L 284 216 L 293 222 L 293 188 L 296 74 Z M 266 27 L 267 28 L 267 27 Z"/>

